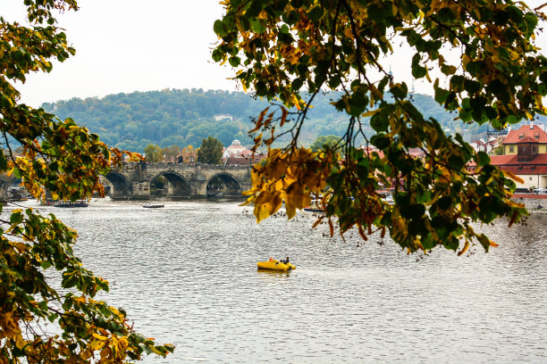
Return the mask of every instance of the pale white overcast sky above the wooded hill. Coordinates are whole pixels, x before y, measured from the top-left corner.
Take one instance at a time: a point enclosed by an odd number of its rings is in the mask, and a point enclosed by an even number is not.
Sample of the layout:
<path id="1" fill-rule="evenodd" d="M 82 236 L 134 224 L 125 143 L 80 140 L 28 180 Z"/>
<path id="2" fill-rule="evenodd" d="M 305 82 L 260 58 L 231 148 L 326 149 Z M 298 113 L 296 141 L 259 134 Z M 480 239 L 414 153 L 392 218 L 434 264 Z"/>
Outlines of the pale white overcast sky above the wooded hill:
<path id="1" fill-rule="evenodd" d="M 24 19 L 22 0 L 0 0 L 6 21 Z M 72 97 L 102 97 L 164 88 L 235 90 L 229 67 L 211 60 L 213 23 L 223 14 L 218 0 L 79 0 L 80 11 L 59 15 L 76 55 L 54 63 L 49 74 L 29 75 L 19 86 L 33 106 Z M 531 7 L 542 0 L 528 1 Z M 547 48 L 543 34 L 537 45 Z M 545 52 L 544 50 L 542 51 Z M 411 83 L 412 54 L 387 64 L 396 78 Z M 417 92 L 430 85 L 416 83 Z M 427 91 L 426 91 L 427 90 Z"/>

